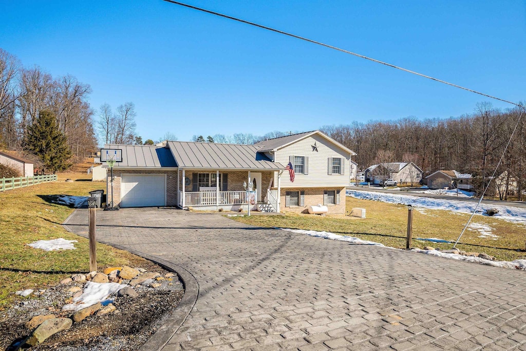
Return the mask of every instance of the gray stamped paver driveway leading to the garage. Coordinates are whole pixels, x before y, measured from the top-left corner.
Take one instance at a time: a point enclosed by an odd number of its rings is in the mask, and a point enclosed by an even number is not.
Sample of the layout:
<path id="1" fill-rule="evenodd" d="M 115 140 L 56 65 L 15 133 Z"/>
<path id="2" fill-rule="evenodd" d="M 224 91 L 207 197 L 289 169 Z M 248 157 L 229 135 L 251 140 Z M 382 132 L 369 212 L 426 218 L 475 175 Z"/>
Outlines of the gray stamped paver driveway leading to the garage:
<path id="1" fill-rule="evenodd" d="M 526 272 L 259 229 L 216 214 L 97 212 L 100 240 L 199 283 L 172 350 L 526 350 Z M 86 233 L 86 210 L 67 225 Z"/>

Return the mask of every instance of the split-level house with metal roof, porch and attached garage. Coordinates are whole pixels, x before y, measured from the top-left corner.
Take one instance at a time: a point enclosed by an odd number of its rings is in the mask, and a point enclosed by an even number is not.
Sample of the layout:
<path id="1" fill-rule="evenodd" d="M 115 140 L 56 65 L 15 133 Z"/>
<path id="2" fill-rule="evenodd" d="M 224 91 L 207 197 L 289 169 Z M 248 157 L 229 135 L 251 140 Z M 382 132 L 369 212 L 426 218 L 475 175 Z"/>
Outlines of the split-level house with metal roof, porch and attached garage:
<path id="1" fill-rule="evenodd" d="M 317 130 L 255 145 L 168 141 L 105 148 L 122 149 L 123 161 L 113 169 L 114 203 L 120 207 L 246 210 L 244 183 L 251 181 L 252 210 L 305 212 L 309 205 L 327 204 L 329 213 L 341 214 L 355 154 Z M 294 182 L 285 170 L 289 162 Z"/>

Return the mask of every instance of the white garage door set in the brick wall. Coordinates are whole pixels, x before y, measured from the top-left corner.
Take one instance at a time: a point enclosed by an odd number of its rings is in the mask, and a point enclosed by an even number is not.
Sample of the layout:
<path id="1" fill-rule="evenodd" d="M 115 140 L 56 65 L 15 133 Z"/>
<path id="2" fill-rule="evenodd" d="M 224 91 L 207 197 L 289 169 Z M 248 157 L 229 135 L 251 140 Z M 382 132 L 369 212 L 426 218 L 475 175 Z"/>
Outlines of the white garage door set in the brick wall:
<path id="1" fill-rule="evenodd" d="M 120 183 L 121 207 L 166 205 L 165 174 L 123 174 Z"/>

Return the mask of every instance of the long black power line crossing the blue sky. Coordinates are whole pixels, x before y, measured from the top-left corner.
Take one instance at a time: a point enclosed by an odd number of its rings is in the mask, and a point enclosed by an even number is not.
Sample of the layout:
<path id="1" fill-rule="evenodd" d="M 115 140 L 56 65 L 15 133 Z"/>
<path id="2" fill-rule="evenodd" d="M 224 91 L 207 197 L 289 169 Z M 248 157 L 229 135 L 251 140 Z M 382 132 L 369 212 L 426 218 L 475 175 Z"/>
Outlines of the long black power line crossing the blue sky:
<path id="1" fill-rule="evenodd" d="M 218 12 L 207 10 L 205 8 L 201 8 L 201 7 L 197 7 L 197 6 L 192 6 L 192 5 L 180 3 L 180 2 L 174 1 L 174 0 L 163 0 L 163 1 L 166 1 L 167 3 L 171 3 L 171 4 L 175 4 L 175 5 L 179 5 L 179 6 L 184 6 L 184 7 L 188 7 L 188 8 L 191 8 L 191 9 L 195 9 L 197 11 L 205 12 L 205 13 L 208 13 L 208 14 L 211 14 L 211 15 L 215 15 L 215 16 L 219 16 L 219 17 L 235 20 L 237 22 L 245 23 L 245 24 L 248 24 L 248 25 L 251 25 L 251 26 L 254 26 L 254 27 L 270 30 L 271 32 L 287 35 L 289 37 L 300 39 L 300 40 L 304 40 L 305 42 L 309 42 L 309 43 L 312 43 L 312 44 L 321 45 L 321 46 L 327 47 L 329 49 L 341 51 L 342 53 L 345 53 L 345 54 L 349 54 L 349 55 L 357 56 L 357 57 L 360 57 L 360 58 L 363 58 L 363 59 L 366 59 L 366 60 L 369 60 L 369 61 L 373 61 L 373 62 L 375 62 L 377 64 L 382 64 L 382 65 L 385 65 L 385 66 L 388 66 L 388 67 L 396 68 L 396 69 L 402 70 L 404 72 L 411 73 L 413 75 L 417 75 L 417 76 L 420 76 L 420 77 L 423 77 L 423 78 L 427 78 L 427 79 L 431 79 L 431 80 L 434 80 L 434 81 L 438 81 L 440 83 L 447 84 L 447 85 L 455 87 L 455 88 L 471 91 L 471 92 L 474 92 L 475 94 L 478 94 L 478 95 L 482 95 L 482 96 L 485 96 L 485 97 L 488 97 L 488 98 L 491 98 L 491 99 L 507 102 L 508 104 L 512 104 L 512 105 L 521 107 L 521 105 L 515 104 L 515 102 L 511 102 L 511 101 L 504 100 L 504 99 L 501 99 L 501 98 L 498 98 L 498 97 L 494 97 L 494 96 L 491 96 L 491 95 L 488 95 L 488 94 L 484 94 L 483 92 L 480 92 L 480 91 L 477 91 L 477 90 L 473 90 L 473 89 L 469 89 L 469 88 L 466 88 L 466 87 L 462 87 L 460 85 L 453 84 L 453 83 L 450 83 L 450 82 L 442 80 L 442 79 L 438 79 L 438 78 L 434 78 L 434 77 L 431 77 L 431 76 L 427 76 L 427 75 L 418 73 L 416 71 L 412 71 L 410 69 L 406 69 L 406 68 L 403 68 L 403 67 L 400 67 L 400 66 L 392 65 L 392 64 L 389 64 L 389 63 L 384 62 L 384 61 L 380 61 L 380 60 L 377 60 L 377 59 L 374 59 L 374 58 L 371 58 L 371 57 L 367 57 L 367 56 L 364 56 L 364 55 L 353 53 L 352 51 L 341 49 L 339 47 L 332 46 L 332 45 L 329 45 L 329 44 L 324 44 L 324 43 L 321 43 L 321 42 L 317 42 L 316 40 L 312 40 L 312 39 L 308 39 L 308 38 L 305 38 L 305 37 L 301 37 L 299 35 L 287 33 L 287 32 L 284 32 L 282 30 L 279 30 L 279 29 L 274 29 L 274 28 L 271 28 L 271 27 L 267 27 L 267 26 L 264 26 L 264 25 L 260 25 L 260 24 L 254 23 L 254 22 L 249 22 L 248 20 L 244 20 L 244 19 L 240 19 L 240 18 L 224 15 L 224 14 L 221 14 L 221 13 L 218 13 Z"/>

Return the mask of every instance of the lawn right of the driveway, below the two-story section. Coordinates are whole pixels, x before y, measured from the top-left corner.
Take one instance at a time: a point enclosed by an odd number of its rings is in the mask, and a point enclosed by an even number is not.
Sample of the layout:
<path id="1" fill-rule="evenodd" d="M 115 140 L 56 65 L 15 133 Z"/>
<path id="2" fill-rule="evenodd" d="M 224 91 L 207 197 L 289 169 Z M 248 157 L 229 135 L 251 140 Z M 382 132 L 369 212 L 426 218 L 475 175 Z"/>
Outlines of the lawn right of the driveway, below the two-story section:
<path id="1" fill-rule="evenodd" d="M 327 231 L 342 235 L 352 235 L 363 240 L 382 243 L 387 246 L 406 247 L 407 206 L 379 201 L 360 200 L 346 197 L 347 211 L 353 207 L 365 208 L 366 219 L 347 216 L 318 216 L 312 214 L 254 215 L 231 217 L 231 219 L 262 227 L 279 227 Z M 424 214 L 425 213 L 425 214 Z M 451 249 L 450 243 L 418 241 L 416 238 L 439 238 L 455 241 L 466 225 L 469 214 L 442 210 L 415 210 L 413 214 L 413 247 L 429 245 L 440 249 Z M 457 247 L 467 252 L 484 252 L 499 260 L 512 261 L 526 257 L 526 229 L 521 224 L 501 219 L 476 215 L 472 223 L 489 226 L 497 240 L 490 237 L 479 238 L 481 231 L 467 230 Z"/>

